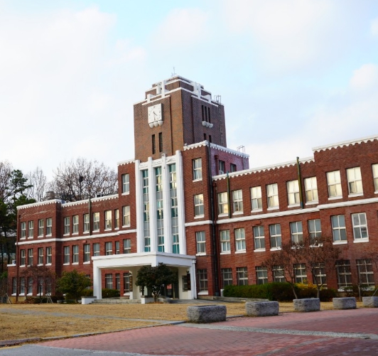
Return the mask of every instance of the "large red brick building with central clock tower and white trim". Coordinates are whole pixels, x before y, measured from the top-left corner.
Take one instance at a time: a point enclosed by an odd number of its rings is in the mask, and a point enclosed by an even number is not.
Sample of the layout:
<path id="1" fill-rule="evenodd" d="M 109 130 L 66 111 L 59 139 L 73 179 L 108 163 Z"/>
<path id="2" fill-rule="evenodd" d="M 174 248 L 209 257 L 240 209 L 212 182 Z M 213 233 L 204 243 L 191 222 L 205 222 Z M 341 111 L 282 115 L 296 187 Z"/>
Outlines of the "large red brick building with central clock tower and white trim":
<path id="1" fill-rule="evenodd" d="M 84 271 L 97 297 L 107 287 L 139 299 L 133 276 L 159 262 L 179 277 L 167 296 L 215 296 L 227 284 L 281 281 L 264 259 L 282 242 L 320 235 L 342 250 L 321 276 L 328 286 L 377 284 L 378 136 L 250 169 L 248 155 L 227 149 L 220 98 L 178 76 L 134 104 L 134 130 L 135 159 L 118 163 L 116 195 L 19 207 L 12 296 L 50 291 L 21 276 L 41 265 Z M 313 280 L 306 264 L 293 269 L 297 281 Z"/>

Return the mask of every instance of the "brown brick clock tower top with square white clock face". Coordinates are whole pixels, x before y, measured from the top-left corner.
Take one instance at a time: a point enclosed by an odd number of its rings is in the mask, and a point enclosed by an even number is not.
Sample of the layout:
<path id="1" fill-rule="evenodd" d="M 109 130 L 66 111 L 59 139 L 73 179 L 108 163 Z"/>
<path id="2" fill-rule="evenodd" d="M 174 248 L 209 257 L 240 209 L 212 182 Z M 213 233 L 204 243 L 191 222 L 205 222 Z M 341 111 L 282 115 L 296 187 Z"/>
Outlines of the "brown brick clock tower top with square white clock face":
<path id="1" fill-rule="evenodd" d="M 205 140 L 227 146 L 225 109 L 199 83 L 175 75 L 153 84 L 134 104 L 135 158 L 141 162 Z"/>

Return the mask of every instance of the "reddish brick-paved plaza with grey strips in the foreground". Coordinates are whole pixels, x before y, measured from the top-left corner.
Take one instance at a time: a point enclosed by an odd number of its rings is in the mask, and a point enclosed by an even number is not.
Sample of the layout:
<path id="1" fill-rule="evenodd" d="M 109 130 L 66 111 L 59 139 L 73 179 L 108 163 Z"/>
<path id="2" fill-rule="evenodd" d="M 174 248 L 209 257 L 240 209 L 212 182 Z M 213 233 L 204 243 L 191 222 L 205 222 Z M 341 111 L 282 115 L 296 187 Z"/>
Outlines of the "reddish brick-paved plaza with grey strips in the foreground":
<path id="1" fill-rule="evenodd" d="M 163 325 L 0 349 L 1 356 L 378 355 L 378 310 L 282 313 Z"/>

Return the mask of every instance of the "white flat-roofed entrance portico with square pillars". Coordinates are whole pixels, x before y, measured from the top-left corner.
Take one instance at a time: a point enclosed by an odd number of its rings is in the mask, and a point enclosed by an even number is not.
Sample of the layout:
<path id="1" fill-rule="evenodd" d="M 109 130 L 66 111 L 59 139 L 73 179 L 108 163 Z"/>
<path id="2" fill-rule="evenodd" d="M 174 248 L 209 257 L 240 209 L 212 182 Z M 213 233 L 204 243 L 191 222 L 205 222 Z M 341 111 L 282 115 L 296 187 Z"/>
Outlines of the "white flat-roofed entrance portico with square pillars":
<path id="1" fill-rule="evenodd" d="M 102 269 L 118 269 L 130 271 L 132 291 L 130 299 L 141 299 L 141 292 L 136 286 L 136 274 L 141 266 L 157 266 L 159 263 L 178 269 L 178 290 L 182 299 L 196 298 L 195 285 L 195 256 L 185 254 L 171 254 L 167 252 L 141 252 L 136 254 L 113 254 L 109 256 L 92 257 L 93 261 L 93 295 L 102 298 Z M 190 276 L 190 290 L 184 291 L 183 276 Z"/>

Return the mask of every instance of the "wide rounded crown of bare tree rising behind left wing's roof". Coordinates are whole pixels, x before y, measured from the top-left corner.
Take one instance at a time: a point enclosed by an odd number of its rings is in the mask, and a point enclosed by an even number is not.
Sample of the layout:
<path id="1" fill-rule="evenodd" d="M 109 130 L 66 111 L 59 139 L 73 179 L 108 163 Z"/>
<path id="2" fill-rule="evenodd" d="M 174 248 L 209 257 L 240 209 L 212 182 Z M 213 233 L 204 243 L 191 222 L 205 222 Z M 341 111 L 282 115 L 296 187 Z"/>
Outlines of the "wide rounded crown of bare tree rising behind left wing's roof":
<path id="1" fill-rule="evenodd" d="M 77 158 L 60 164 L 53 173 L 49 190 L 68 202 L 117 193 L 117 173 L 104 163 Z"/>

